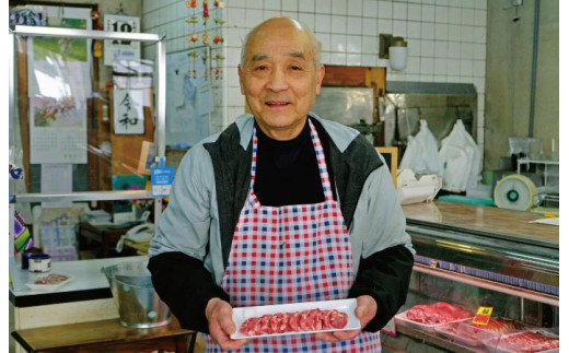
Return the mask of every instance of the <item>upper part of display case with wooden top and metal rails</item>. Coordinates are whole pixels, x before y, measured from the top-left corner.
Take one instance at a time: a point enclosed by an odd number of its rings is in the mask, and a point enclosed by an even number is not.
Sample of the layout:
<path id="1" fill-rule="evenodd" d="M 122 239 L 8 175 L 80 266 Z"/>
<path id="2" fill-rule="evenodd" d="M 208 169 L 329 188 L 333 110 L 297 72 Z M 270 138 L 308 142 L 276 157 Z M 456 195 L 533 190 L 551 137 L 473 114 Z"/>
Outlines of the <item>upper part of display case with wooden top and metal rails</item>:
<path id="1" fill-rule="evenodd" d="M 543 215 L 448 201 L 403 209 L 417 270 L 558 305 L 559 226 L 530 223 Z"/>

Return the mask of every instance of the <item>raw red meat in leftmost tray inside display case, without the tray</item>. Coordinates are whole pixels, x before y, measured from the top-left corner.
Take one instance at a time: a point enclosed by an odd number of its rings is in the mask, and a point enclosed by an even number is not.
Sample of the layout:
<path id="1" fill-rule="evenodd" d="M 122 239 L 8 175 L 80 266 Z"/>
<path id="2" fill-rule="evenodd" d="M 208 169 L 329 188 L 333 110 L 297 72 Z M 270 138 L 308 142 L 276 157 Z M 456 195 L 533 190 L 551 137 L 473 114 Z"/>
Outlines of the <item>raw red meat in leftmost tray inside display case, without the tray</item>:
<path id="1" fill-rule="evenodd" d="M 430 305 L 416 305 L 408 309 L 405 316 L 411 321 L 438 325 L 466 319 L 472 317 L 472 313 L 454 304 L 438 302 Z"/>

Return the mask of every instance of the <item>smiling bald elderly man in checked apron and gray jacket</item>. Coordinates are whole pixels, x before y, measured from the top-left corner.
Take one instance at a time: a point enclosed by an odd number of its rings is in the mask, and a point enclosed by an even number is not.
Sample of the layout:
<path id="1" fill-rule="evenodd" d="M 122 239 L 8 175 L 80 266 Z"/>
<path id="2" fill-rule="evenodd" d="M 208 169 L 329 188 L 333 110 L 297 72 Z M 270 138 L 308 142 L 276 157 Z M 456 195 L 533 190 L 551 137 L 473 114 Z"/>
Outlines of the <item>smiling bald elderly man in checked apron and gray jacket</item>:
<path id="1" fill-rule="evenodd" d="M 358 131 L 310 110 L 325 69 L 309 28 L 269 19 L 239 67 L 252 115 L 183 158 L 149 269 L 207 352 L 379 352 L 414 249 L 391 174 Z M 358 330 L 232 340 L 233 307 L 357 298 Z"/>

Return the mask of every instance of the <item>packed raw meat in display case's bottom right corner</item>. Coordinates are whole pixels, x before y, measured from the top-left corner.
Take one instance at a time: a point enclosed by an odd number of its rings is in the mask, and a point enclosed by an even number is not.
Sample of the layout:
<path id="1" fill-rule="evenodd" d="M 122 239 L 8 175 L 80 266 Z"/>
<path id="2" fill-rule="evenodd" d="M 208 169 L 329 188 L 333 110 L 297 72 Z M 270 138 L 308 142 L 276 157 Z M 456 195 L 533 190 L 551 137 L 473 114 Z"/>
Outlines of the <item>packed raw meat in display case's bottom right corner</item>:
<path id="1" fill-rule="evenodd" d="M 559 336 L 547 330 L 529 330 L 504 334 L 484 342 L 488 351 L 496 353 L 554 353 L 559 352 Z"/>

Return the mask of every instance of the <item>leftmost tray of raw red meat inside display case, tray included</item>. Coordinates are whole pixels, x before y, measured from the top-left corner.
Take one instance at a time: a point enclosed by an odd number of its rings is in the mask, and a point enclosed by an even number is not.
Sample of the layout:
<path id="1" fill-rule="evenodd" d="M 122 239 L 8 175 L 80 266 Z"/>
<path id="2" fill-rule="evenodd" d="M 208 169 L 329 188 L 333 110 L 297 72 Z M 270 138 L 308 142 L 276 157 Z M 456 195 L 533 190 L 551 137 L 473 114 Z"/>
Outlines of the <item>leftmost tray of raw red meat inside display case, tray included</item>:
<path id="1" fill-rule="evenodd" d="M 462 306 L 437 302 L 429 305 L 415 305 L 410 309 L 395 315 L 395 323 L 433 333 L 434 328 L 441 325 L 473 317 L 473 314 Z"/>

